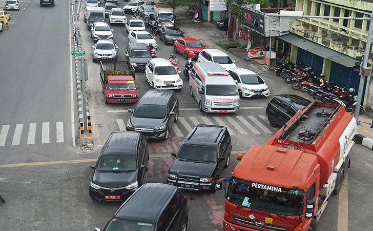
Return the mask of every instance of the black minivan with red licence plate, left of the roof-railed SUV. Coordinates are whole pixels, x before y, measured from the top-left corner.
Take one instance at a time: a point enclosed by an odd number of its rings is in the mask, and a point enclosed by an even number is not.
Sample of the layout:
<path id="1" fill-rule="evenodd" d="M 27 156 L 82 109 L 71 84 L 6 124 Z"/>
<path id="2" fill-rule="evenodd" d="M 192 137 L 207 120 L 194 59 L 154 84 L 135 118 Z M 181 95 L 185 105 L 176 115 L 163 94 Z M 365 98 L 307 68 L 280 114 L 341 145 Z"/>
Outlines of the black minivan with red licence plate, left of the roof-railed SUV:
<path id="1" fill-rule="evenodd" d="M 148 141 L 138 132 L 111 133 L 94 169 L 89 196 L 98 201 L 124 201 L 142 185 L 149 167 Z"/>

